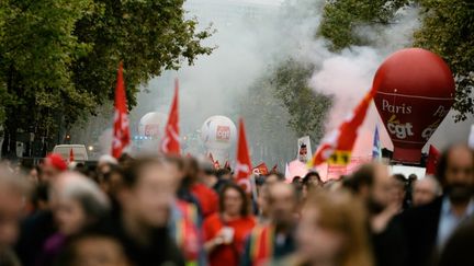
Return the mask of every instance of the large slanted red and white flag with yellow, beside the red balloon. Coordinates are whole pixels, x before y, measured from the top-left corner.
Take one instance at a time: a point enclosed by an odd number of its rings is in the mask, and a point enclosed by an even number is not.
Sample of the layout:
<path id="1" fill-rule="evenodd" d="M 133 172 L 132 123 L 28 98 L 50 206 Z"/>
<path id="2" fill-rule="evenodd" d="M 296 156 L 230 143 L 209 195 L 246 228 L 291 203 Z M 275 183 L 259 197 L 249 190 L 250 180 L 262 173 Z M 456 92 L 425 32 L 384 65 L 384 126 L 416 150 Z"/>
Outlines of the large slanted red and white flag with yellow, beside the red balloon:
<path id="1" fill-rule="evenodd" d="M 356 109 L 342 122 L 340 127 L 323 140 L 320 148 L 308 163 L 309 167 L 317 166 L 326 161 L 339 165 L 350 163 L 350 153 L 358 137 L 359 127 L 365 119 L 366 111 L 375 93 L 376 86 L 374 85 Z"/>

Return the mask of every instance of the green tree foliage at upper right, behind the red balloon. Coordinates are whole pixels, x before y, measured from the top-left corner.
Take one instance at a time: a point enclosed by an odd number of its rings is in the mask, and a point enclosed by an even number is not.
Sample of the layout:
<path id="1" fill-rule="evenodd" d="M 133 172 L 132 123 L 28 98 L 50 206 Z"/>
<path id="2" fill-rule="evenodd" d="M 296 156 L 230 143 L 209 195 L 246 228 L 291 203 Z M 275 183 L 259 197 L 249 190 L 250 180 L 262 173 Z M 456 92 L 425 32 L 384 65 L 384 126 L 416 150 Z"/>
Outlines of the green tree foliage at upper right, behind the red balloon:
<path id="1" fill-rule="evenodd" d="M 404 5 L 419 7 L 421 27 L 415 33 L 416 47 L 440 55 L 456 81 L 453 108 L 456 120 L 474 114 L 474 4 L 466 0 L 332 0 L 324 9 L 318 34 L 339 51 L 352 45 L 371 45 L 357 34 L 358 26 L 397 23 L 394 14 Z"/>

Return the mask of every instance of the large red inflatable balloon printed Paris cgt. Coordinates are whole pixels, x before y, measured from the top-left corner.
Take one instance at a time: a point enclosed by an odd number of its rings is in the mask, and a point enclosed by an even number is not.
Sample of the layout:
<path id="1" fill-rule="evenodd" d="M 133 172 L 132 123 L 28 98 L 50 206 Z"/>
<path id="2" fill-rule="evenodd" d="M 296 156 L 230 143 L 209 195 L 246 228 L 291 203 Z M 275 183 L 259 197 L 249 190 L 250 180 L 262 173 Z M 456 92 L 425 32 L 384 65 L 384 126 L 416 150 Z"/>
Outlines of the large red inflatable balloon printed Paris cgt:
<path id="1" fill-rule="evenodd" d="M 375 73 L 375 105 L 394 144 L 393 160 L 419 163 L 421 149 L 454 102 L 454 80 L 436 54 L 409 48 L 390 56 Z"/>

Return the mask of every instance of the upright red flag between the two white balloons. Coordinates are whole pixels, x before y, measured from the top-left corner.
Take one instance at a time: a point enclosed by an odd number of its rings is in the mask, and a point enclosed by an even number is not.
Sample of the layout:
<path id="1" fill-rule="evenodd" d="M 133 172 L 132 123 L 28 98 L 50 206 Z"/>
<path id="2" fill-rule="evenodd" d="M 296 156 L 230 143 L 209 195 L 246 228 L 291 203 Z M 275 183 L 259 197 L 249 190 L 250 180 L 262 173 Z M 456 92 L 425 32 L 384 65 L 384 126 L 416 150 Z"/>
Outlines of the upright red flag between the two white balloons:
<path id="1" fill-rule="evenodd" d="M 168 123 L 165 128 L 165 137 L 161 141 L 161 152 L 165 154 L 179 155 L 181 146 L 179 139 L 179 114 L 178 114 L 178 79 L 174 80 L 174 97 L 171 103 L 171 109 L 168 116 Z"/>

